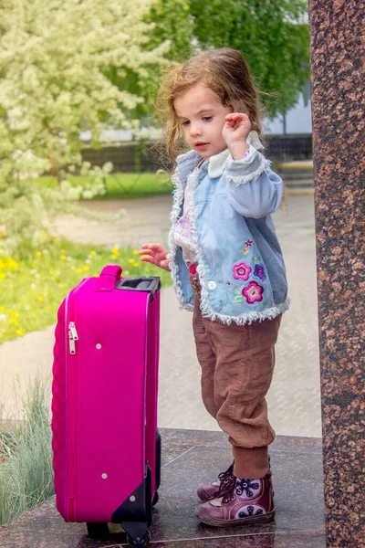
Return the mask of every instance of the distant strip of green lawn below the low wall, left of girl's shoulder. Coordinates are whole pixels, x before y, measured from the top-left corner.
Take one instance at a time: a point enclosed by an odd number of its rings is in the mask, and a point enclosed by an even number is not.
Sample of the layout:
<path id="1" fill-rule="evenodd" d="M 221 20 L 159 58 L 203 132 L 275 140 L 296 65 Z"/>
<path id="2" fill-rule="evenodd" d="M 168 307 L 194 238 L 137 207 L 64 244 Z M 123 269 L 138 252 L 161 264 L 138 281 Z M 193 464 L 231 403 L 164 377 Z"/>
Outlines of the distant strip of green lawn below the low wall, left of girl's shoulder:
<path id="1" fill-rule="evenodd" d="M 39 177 L 36 181 L 38 184 L 57 187 L 57 179 L 55 177 Z M 88 184 L 88 182 L 88 177 L 76 175 L 70 180 L 70 183 L 75 184 L 76 186 L 83 186 Z M 133 199 L 159 194 L 169 194 L 172 192 L 170 174 L 167 173 L 158 175 L 155 173 L 110 174 L 106 177 L 105 184 L 107 189 L 106 194 L 97 195 L 95 196 L 95 199 Z"/>

